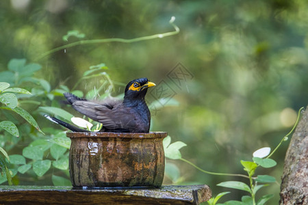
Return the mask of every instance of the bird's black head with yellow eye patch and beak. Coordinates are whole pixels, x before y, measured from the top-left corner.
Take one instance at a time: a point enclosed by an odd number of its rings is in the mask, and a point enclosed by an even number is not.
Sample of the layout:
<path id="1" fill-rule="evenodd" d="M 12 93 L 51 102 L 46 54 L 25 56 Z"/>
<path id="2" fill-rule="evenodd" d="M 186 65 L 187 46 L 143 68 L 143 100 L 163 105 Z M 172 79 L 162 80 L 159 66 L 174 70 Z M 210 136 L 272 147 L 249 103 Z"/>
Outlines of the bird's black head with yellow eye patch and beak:
<path id="1" fill-rule="evenodd" d="M 130 81 L 125 87 L 125 96 L 126 99 L 142 99 L 146 95 L 146 91 L 149 87 L 155 86 L 155 83 L 152 83 L 147 78 L 136 79 Z"/>

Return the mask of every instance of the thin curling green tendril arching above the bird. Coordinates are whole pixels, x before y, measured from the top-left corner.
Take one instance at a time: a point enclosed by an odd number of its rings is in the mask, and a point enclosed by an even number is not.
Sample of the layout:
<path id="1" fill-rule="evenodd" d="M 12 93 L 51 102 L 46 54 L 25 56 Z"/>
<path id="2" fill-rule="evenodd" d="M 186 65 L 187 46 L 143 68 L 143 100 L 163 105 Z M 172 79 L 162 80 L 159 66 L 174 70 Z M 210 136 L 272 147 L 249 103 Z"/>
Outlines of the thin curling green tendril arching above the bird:
<path id="1" fill-rule="evenodd" d="M 55 49 L 52 49 L 50 51 L 47 51 L 46 53 L 43 53 L 42 55 L 39 55 L 34 61 L 37 61 L 38 59 L 41 59 L 47 55 L 50 55 L 51 53 L 55 53 L 57 51 L 61 51 L 62 49 L 68 49 L 73 46 L 78 46 L 81 44 L 98 44 L 98 43 L 105 43 L 105 42 L 123 42 L 123 43 L 131 43 L 131 42 L 138 42 L 142 40 L 151 40 L 154 38 L 163 38 L 166 36 L 173 36 L 179 33 L 180 29 L 175 25 L 173 22 L 175 21 L 175 17 L 172 16 L 171 20 L 169 21 L 170 25 L 175 28 L 175 31 L 170 31 L 167 33 L 157 33 L 152 36 L 142 36 L 139 38 L 132 38 L 132 39 L 124 39 L 124 38 L 105 38 L 105 39 L 94 39 L 94 40 L 80 40 L 77 42 L 73 42 L 71 44 L 66 44 L 64 46 L 57 47 Z"/>

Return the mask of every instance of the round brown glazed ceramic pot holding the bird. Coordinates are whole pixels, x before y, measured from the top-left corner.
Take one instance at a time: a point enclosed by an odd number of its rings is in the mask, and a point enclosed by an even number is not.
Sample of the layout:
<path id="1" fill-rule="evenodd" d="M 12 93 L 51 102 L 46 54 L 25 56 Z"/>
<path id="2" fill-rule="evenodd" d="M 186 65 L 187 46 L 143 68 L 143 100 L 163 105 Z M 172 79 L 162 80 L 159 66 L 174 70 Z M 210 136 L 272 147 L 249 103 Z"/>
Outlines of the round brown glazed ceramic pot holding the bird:
<path id="1" fill-rule="evenodd" d="M 66 133 L 73 187 L 160 187 L 164 132 Z"/>

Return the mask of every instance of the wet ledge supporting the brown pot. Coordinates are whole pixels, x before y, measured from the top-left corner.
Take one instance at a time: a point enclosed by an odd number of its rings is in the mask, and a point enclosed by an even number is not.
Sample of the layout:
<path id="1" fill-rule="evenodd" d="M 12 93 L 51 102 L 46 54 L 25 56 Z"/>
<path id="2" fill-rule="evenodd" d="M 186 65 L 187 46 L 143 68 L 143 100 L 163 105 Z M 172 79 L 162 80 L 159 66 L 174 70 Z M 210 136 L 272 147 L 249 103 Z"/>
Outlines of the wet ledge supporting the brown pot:
<path id="1" fill-rule="evenodd" d="M 210 197 L 205 184 L 159 189 L 0 186 L 0 204 L 200 204 Z"/>

